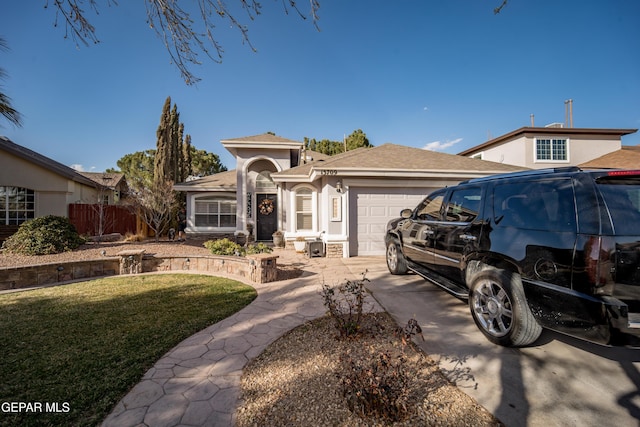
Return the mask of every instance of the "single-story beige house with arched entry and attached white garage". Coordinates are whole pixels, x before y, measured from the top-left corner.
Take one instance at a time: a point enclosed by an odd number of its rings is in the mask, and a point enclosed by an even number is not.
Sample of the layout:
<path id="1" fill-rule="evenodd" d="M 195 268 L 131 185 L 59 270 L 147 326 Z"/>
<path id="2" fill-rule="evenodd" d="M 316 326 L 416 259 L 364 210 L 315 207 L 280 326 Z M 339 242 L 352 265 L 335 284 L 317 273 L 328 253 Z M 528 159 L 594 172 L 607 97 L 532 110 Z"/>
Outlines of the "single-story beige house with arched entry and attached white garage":
<path id="1" fill-rule="evenodd" d="M 328 256 L 384 254 L 385 226 L 430 191 L 523 168 L 384 144 L 327 157 L 271 134 L 221 141 L 236 169 L 175 185 L 187 233 L 322 238 Z"/>

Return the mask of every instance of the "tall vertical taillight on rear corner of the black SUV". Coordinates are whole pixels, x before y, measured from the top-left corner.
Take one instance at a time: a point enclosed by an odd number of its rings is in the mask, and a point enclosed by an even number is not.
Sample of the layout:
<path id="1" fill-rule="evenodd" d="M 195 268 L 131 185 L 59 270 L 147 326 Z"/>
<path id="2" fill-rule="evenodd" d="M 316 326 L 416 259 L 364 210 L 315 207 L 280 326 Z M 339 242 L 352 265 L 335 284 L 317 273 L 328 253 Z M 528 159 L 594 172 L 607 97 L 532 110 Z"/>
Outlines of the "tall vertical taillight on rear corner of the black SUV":
<path id="1" fill-rule="evenodd" d="M 585 266 L 594 294 L 611 295 L 615 283 L 615 240 L 608 236 L 592 236 L 585 249 Z"/>

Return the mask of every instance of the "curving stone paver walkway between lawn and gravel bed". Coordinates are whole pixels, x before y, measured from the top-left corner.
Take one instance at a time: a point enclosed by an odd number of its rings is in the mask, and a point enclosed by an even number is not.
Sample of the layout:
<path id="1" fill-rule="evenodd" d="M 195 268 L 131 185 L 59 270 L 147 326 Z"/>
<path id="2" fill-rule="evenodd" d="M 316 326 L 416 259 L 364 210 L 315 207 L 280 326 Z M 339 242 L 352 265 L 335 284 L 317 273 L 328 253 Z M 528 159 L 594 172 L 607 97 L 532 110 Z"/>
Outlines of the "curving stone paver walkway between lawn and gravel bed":
<path id="1" fill-rule="evenodd" d="M 285 332 L 325 314 L 321 284 L 355 278 L 342 259 L 274 252 L 302 277 L 252 285 L 257 298 L 165 354 L 105 419 L 103 427 L 232 426 L 248 361 Z M 372 298 L 368 303 L 379 308 Z"/>

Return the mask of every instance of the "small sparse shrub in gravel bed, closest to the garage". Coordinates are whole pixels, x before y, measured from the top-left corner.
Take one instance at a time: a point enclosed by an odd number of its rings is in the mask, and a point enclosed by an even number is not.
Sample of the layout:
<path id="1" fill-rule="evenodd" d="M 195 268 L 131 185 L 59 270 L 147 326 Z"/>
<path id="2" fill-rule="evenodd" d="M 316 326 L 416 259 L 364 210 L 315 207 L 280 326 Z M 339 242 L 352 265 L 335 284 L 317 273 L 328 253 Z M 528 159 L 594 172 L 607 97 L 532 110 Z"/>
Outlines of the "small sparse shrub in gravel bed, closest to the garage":
<path id="1" fill-rule="evenodd" d="M 341 337 L 350 337 L 360 331 L 366 293 L 364 284 L 368 281 L 364 272 L 361 280 L 347 280 L 335 288 L 322 284 L 320 295 Z"/>

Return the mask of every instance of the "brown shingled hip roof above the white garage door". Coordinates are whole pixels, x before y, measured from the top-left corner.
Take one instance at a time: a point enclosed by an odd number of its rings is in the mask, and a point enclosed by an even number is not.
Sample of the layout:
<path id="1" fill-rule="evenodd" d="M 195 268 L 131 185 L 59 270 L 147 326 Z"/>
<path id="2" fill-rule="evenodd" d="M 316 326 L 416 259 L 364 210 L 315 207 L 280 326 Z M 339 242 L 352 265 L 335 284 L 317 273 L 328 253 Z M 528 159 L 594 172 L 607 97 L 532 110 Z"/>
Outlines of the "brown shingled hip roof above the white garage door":
<path id="1" fill-rule="evenodd" d="M 324 160 L 271 174 L 271 177 L 276 182 L 303 178 L 314 180 L 322 170 L 336 171 L 341 176 L 426 178 L 456 174 L 472 177 L 523 169 L 525 168 L 404 145 L 383 144 L 378 147 L 363 147 L 336 154 Z"/>

